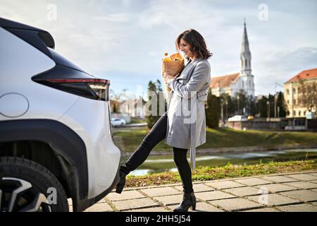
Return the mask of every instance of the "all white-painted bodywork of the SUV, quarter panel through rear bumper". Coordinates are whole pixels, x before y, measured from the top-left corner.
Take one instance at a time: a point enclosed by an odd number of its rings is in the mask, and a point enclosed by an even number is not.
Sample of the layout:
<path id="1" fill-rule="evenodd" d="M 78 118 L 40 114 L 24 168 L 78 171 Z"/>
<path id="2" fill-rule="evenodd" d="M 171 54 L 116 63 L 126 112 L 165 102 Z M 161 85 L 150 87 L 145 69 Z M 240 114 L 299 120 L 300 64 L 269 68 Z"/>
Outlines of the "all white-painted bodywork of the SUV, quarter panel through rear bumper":
<path id="1" fill-rule="evenodd" d="M 19 26 L 14 29 L 31 28 Z M 31 31 L 35 35 L 36 30 Z M 19 32 L 20 35 L 25 33 Z M 43 46 L 38 49 L 32 46 L 32 42 L 26 42 L 1 27 L 0 39 L 0 121 L 49 119 L 74 131 L 85 143 L 88 174 L 87 197 L 74 203 L 80 202 L 78 210 L 91 206 L 118 182 L 120 150 L 112 141 L 109 102 L 80 97 L 32 81 L 32 76 L 62 64 L 61 56 L 54 61 L 54 54 L 41 52 Z M 41 40 L 37 40 L 39 42 Z M 49 43 L 54 47 L 54 40 L 49 40 Z M 67 66 L 71 68 L 71 65 Z M 1 97 L 4 97 L 3 102 Z M 18 109 L 19 106 L 23 109 Z M 1 111 L 6 114 L 1 114 Z"/>

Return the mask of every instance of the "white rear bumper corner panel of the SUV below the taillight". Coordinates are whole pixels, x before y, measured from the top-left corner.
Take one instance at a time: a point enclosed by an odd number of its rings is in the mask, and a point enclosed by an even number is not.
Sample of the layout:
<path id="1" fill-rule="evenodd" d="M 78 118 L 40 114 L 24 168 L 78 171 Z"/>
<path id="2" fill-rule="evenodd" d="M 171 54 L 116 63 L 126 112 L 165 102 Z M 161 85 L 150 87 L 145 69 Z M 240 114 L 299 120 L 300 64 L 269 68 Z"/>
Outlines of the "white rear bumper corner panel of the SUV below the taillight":
<path id="1" fill-rule="evenodd" d="M 58 119 L 73 128 L 87 146 L 89 198 L 110 186 L 120 162 L 120 150 L 111 138 L 108 102 L 80 97 Z"/>

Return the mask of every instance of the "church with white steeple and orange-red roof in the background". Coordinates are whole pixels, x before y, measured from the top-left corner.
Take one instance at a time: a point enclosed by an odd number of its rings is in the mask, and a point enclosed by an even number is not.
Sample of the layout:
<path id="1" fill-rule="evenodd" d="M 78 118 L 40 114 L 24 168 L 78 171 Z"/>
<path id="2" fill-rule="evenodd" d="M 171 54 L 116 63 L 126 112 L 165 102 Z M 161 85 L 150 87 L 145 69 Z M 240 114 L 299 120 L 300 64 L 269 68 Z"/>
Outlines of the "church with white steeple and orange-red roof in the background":
<path id="1" fill-rule="evenodd" d="M 211 78 L 210 88 L 213 95 L 218 97 L 223 93 L 228 93 L 231 97 L 235 97 L 240 90 L 243 90 L 246 96 L 254 97 L 254 76 L 251 73 L 251 52 L 245 21 L 240 61 L 240 72 Z"/>

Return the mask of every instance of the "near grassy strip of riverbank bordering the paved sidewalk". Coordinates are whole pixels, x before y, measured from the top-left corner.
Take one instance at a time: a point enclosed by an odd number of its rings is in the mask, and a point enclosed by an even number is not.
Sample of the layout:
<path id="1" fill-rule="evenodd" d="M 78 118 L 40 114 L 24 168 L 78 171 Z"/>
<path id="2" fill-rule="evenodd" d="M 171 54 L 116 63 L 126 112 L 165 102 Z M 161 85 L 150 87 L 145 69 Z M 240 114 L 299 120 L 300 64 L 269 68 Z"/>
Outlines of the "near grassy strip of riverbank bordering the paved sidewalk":
<path id="1" fill-rule="evenodd" d="M 192 179 L 195 182 L 276 173 L 301 172 L 315 169 L 317 169 L 317 159 L 288 162 L 260 162 L 256 165 L 231 165 L 229 163 L 224 167 L 197 167 L 197 169 L 192 172 Z M 147 174 L 145 176 L 128 175 L 126 186 L 142 187 L 179 182 L 181 182 L 181 179 L 178 172 L 163 172 L 157 174 Z"/>

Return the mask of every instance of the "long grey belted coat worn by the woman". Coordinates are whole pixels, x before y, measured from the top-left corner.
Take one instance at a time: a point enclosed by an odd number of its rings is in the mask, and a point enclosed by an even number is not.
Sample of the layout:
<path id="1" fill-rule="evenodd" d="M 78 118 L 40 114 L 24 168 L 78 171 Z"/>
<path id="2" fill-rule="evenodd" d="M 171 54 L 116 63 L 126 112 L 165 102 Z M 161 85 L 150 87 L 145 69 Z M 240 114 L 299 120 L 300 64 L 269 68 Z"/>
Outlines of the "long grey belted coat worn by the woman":
<path id="1" fill-rule="evenodd" d="M 206 143 L 204 103 L 211 81 L 206 59 L 189 62 L 178 78 L 168 81 L 168 125 L 165 143 L 175 148 L 190 148 L 190 161 L 196 168 L 196 147 Z"/>

